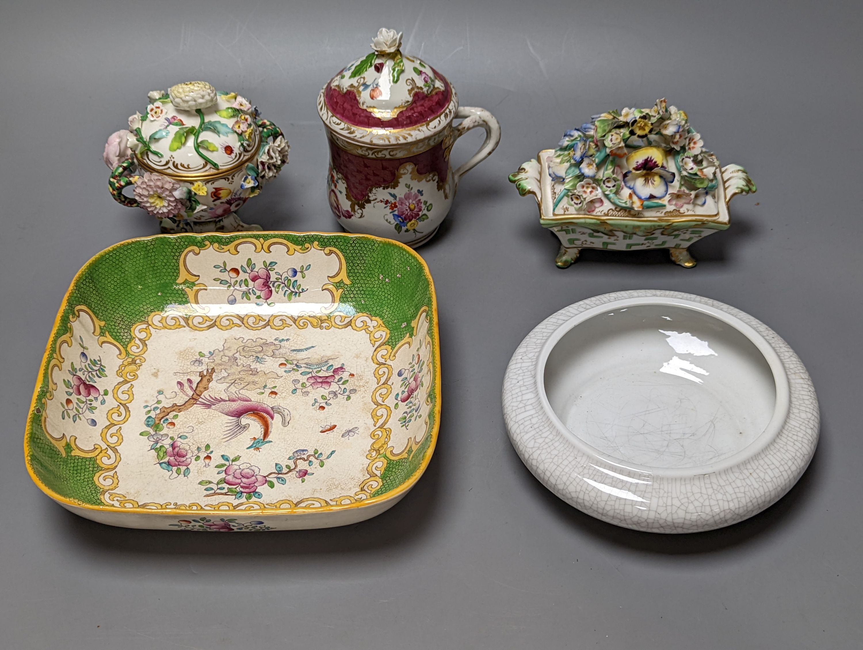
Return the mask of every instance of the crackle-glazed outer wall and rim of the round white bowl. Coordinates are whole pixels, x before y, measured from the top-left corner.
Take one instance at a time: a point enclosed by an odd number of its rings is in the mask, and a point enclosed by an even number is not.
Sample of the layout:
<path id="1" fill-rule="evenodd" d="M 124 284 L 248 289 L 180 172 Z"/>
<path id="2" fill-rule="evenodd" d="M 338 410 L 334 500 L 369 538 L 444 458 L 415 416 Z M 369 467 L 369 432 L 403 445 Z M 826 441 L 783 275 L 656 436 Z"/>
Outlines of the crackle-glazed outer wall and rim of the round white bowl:
<path id="1" fill-rule="evenodd" d="M 705 470 L 701 465 L 690 469 L 684 463 L 677 464 L 676 469 L 662 469 L 627 462 L 595 449 L 591 451 L 589 445 L 578 443 L 572 433 L 557 424 L 559 419 L 548 402 L 543 406 L 545 388 L 538 370 L 546 344 L 563 325 L 583 312 L 606 305 L 611 312 L 614 311 L 612 303 L 626 299 L 649 301 L 652 297 L 690 301 L 728 313 L 769 344 L 787 375 L 788 386 L 787 415 L 776 423 L 775 434 L 768 432 L 766 438 L 755 439 L 748 448 L 730 448 L 724 457 L 717 454 L 715 458 L 719 460 L 715 460 L 713 468 L 708 466 Z M 669 326 L 668 331 L 673 328 Z M 683 333 L 677 332 L 678 335 Z M 680 341 L 678 336 L 677 343 Z M 685 357 L 682 352 L 675 357 L 683 357 L 680 361 L 691 365 L 702 358 L 698 355 L 694 359 Z M 703 358 L 706 357 L 709 355 Z M 677 377 L 669 376 L 669 382 L 691 381 L 680 377 L 680 372 L 702 378 L 701 373 L 693 371 L 686 363 L 672 364 L 676 367 L 670 368 L 672 372 L 668 374 Z M 553 314 L 539 324 L 513 354 L 503 384 L 503 405 L 513 446 L 545 487 L 598 519 L 655 533 L 710 530 L 759 513 L 797 482 L 809 465 L 818 440 L 815 390 L 803 363 L 788 344 L 752 316 L 715 300 L 687 293 L 608 293 Z M 674 464 L 665 463 L 666 466 Z"/>

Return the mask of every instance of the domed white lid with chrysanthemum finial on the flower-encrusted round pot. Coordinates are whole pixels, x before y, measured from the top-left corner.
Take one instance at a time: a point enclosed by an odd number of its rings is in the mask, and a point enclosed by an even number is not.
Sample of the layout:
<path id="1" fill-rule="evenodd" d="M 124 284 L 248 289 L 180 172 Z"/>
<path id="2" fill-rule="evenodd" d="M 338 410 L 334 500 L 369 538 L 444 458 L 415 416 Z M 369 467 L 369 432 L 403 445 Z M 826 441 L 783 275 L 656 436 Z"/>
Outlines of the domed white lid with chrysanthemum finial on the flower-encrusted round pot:
<path id="1" fill-rule="evenodd" d="M 129 117 L 142 167 L 168 176 L 219 176 L 254 158 L 261 145 L 258 110 L 236 92 L 205 81 L 148 93 L 146 112 Z"/>

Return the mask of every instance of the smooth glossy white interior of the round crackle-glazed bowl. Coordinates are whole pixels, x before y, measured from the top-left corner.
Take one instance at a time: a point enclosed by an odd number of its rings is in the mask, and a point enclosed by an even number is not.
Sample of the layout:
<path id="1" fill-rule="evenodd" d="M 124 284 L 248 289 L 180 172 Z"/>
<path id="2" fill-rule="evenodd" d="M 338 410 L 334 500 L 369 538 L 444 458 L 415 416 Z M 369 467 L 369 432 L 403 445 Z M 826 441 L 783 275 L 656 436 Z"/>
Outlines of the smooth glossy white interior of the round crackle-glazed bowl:
<path id="1" fill-rule="evenodd" d="M 769 443 L 788 408 L 775 351 L 728 313 L 652 300 L 584 312 L 546 344 L 540 385 L 565 432 L 654 472 L 715 470 Z"/>

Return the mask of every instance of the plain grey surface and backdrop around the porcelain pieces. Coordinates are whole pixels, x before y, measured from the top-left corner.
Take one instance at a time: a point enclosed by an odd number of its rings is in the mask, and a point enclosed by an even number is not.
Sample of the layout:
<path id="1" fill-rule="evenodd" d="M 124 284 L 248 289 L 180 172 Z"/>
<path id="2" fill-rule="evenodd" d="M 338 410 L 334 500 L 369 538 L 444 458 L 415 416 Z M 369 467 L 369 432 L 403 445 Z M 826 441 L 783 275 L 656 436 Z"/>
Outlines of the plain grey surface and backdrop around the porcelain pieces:
<path id="1" fill-rule="evenodd" d="M 3 2 L 0 646 L 860 647 L 860 16 L 858 2 L 751 0 Z M 130 531 L 55 505 L 22 461 L 54 315 L 91 256 L 156 232 L 110 198 L 106 137 L 151 89 L 242 92 L 293 147 L 246 220 L 336 230 L 315 99 L 384 25 L 503 129 L 419 250 L 443 356 L 425 476 L 374 520 L 296 533 Z M 658 97 L 759 192 L 693 247 L 695 269 L 589 251 L 558 270 L 507 174 L 590 115 Z M 521 338 L 572 302 L 643 287 L 753 314 L 813 377 L 815 460 L 749 521 L 676 537 L 609 526 L 547 492 L 507 440 L 501 382 Z"/>

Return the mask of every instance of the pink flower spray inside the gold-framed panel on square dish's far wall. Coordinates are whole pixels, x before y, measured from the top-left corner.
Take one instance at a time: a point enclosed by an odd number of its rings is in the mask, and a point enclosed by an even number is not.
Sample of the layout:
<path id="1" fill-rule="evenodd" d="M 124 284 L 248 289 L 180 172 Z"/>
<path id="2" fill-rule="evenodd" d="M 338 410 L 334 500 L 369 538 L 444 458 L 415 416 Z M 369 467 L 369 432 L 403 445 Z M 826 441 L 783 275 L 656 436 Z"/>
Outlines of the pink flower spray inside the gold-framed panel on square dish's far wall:
<path id="1" fill-rule="evenodd" d="M 286 271 L 275 270 L 277 262 L 261 262 L 261 266 L 252 262 L 252 258 L 241 264 L 240 268 L 228 267 L 227 262 L 213 265 L 220 274 L 228 276 L 213 278 L 220 285 L 227 287 L 230 291 L 226 299 L 229 305 L 236 305 L 236 300 L 261 300 L 268 305 L 273 293 L 280 293 L 290 302 L 294 298 L 306 293 L 308 288 L 299 283 L 299 279 L 306 279 L 306 273 L 312 268 L 311 264 L 303 264 L 297 268 L 291 267 Z M 245 275 L 246 277 L 240 277 Z M 299 276 L 299 279 L 298 279 Z"/>

